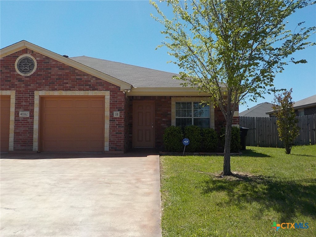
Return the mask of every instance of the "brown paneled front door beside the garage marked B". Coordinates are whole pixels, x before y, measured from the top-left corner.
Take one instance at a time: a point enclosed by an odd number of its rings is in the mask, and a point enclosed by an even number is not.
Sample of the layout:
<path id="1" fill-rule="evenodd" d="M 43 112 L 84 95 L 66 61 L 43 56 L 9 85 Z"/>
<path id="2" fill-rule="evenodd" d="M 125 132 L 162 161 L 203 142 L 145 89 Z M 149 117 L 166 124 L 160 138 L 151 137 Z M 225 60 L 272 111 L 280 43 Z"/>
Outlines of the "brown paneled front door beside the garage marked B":
<path id="1" fill-rule="evenodd" d="M 154 101 L 133 101 L 133 147 L 155 146 L 154 120 Z"/>

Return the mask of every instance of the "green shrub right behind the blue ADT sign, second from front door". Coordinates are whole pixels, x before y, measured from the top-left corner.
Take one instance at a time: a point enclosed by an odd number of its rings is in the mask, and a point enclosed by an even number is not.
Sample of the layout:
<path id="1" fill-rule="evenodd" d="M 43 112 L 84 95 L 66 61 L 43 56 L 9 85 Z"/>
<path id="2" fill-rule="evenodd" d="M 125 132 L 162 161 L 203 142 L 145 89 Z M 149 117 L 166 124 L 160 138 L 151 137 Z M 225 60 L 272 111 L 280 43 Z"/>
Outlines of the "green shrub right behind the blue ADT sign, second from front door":
<path id="1" fill-rule="evenodd" d="M 201 149 L 201 129 L 198 126 L 191 125 L 184 128 L 185 137 L 190 140 L 190 144 L 186 146 L 186 152 L 200 152 Z"/>

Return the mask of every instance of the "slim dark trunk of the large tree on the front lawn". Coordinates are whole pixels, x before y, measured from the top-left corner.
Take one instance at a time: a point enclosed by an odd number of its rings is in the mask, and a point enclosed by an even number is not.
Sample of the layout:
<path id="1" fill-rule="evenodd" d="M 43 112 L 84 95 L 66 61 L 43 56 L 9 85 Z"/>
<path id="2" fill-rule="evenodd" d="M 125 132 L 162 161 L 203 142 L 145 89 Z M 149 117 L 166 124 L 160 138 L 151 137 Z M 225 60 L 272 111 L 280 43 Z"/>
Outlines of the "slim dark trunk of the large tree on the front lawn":
<path id="1" fill-rule="evenodd" d="M 233 116 L 227 116 L 224 146 L 224 175 L 232 175 L 232 172 L 230 171 L 230 141 L 232 140 L 232 123 Z"/>

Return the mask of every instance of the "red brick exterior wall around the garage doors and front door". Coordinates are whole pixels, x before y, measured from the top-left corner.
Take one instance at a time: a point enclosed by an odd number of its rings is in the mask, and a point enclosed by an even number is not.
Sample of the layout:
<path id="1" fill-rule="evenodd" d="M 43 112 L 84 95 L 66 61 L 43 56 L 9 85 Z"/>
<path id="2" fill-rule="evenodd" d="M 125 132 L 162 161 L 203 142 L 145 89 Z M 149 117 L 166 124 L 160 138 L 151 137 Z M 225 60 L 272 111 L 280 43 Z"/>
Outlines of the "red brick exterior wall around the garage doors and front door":
<path id="1" fill-rule="evenodd" d="M 19 56 L 27 53 L 36 59 L 37 69 L 30 76 L 21 76 L 14 64 Z M 133 100 L 154 100 L 155 148 L 163 146 L 163 132 L 171 126 L 171 96 L 127 96 L 116 85 L 29 49 L 1 58 L 0 64 L 1 90 L 15 90 L 14 150 L 33 150 L 34 91 L 110 91 L 111 152 L 126 152 L 132 147 Z M 19 117 L 19 111 L 30 111 L 30 117 Z M 119 118 L 113 118 L 114 111 L 120 111 Z M 225 126 L 225 119 L 219 108 L 214 112 L 215 129 L 219 131 Z M 234 117 L 233 124 L 239 124 L 239 117 Z"/>

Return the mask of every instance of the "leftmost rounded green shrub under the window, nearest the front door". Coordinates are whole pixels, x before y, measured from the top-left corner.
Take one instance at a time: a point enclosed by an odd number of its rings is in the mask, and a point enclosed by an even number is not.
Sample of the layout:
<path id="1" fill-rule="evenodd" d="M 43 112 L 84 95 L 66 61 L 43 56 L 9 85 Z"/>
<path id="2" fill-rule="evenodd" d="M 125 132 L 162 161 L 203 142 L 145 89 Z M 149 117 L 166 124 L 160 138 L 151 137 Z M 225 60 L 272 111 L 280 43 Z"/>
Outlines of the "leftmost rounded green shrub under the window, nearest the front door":
<path id="1" fill-rule="evenodd" d="M 183 133 L 180 127 L 171 126 L 165 129 L 163 143 L 169 152 L 180 152 L 183 149 Z"/>

